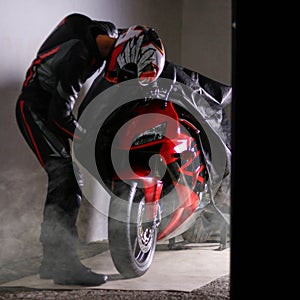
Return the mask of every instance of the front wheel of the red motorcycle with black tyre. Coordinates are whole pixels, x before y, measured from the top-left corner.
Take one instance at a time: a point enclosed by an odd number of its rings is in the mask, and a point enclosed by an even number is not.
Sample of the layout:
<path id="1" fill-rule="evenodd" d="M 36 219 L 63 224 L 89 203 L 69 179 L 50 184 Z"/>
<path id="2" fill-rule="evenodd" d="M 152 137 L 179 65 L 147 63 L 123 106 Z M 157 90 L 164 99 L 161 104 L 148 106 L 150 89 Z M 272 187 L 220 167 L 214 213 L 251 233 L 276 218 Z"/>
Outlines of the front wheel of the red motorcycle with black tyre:
<path id="1" fill-rule="evenodd" d="M 140 277 L 151 266 L 157 227 L 145 222 L 145 197 L 136 182 L 114 184 L 109 205 L 108 242 L 114 266 L 125 278 Z"/>

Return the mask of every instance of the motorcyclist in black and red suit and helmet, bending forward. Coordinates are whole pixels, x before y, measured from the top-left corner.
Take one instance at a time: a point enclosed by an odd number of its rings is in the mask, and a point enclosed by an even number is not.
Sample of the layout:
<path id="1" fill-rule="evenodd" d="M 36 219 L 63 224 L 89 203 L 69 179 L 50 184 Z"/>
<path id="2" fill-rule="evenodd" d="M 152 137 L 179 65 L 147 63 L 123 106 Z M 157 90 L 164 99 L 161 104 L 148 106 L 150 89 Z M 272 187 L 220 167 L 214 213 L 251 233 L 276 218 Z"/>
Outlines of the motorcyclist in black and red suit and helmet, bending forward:
<path id="1" fill-rule="evenodd" d="M 128 56 L 133 49 L 136 55 Z M 112 84 L 134 77 L 150 82 L 160 75 L 164 60 L 163 45 L 153 29 L 117 30 L 111 22 L 81 14 L 64 18 L 40 47 L 16 105 L 20 131 L 48 175 L 40 278 L 86 286 L 107 280 L 106 275 L 85 267 L 77 255 L 82 180 L 69 140 L 80 141 L 88 135 L 72 113 L 82 84 L 104 63 L 101 74 Z"/>

